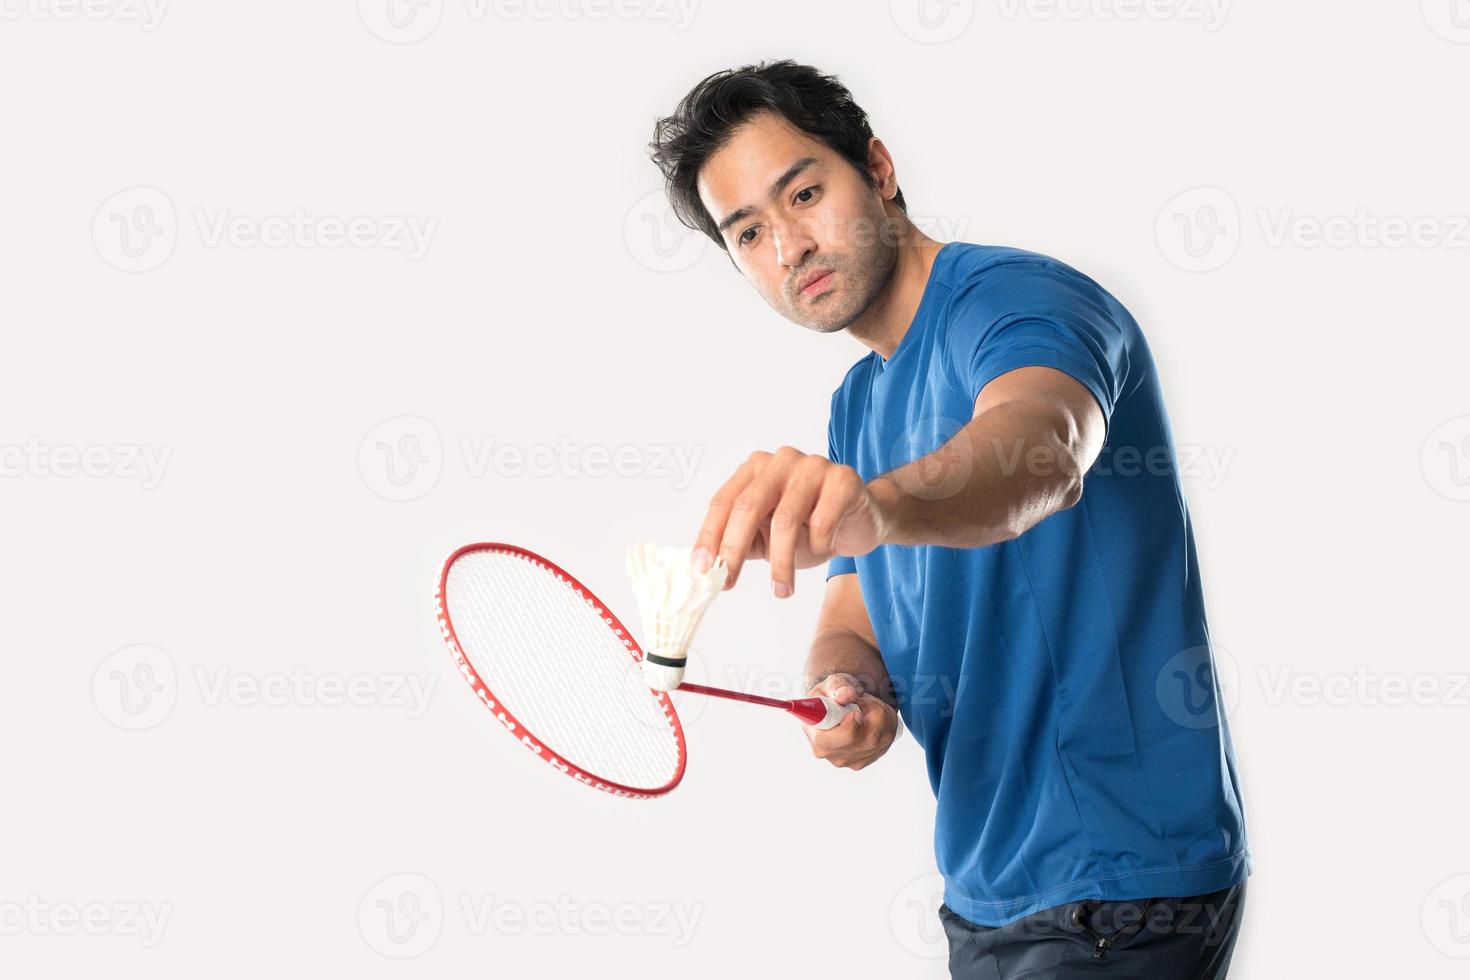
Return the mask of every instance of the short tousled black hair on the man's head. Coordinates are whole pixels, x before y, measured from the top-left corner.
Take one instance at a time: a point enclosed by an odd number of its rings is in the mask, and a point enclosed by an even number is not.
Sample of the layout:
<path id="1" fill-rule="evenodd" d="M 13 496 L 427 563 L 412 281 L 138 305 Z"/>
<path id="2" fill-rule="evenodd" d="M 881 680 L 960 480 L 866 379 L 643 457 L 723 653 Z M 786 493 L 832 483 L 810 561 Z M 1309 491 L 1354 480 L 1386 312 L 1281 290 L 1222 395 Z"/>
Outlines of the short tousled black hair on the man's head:
<path id="1" fill-rule="evenodd" d="M 867 170 L 873 128 L 867 125 L 867 113 L 853 101 L 853 93 L 835 75 L 789 59 L 714 72 L 679 100 L 672 116 L 654 125 L 648 154 L 663 172 L 673 213 L 720 248 L 725 239 L 700 200 L 700 167 L 729 141 L 736 126 L 763 110 L 781 115 L 836 150 L 869 187 L 876 187 Z M 901 190 L 894 203 L 907 210 Z"/>

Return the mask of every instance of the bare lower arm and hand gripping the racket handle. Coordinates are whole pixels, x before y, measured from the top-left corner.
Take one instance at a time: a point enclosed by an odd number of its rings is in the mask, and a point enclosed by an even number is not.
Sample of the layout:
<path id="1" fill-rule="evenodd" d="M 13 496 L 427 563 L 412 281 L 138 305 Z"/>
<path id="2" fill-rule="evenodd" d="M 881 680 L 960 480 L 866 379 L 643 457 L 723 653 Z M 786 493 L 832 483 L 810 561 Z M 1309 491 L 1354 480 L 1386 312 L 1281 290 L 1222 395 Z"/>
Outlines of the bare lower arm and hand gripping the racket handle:
<path id="1" fill-rule="evenodd" d="M 828 579 L 806 683 L 813 695 L 860 708 L 826 732 L 806 726 L 813 755 L 856 771 L 876 763 L 894 743 L 897 701 L 856 574 Z"/>

